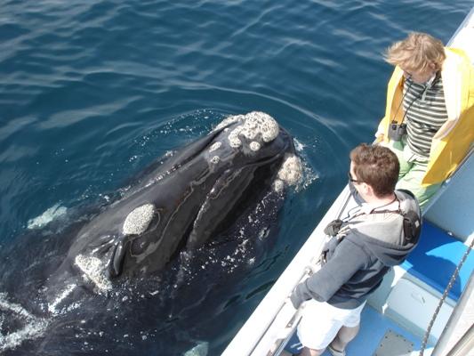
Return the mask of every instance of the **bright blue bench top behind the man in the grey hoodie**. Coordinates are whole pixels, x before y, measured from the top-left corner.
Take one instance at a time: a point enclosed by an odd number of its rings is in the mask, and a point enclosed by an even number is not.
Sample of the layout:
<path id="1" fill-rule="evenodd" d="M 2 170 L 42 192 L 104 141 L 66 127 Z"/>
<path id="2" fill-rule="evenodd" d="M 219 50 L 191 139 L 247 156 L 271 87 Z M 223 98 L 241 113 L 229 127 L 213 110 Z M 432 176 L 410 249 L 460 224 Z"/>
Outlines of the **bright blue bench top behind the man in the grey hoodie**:
<path id="1" fill-rule="evenodd" d="M 454 239 L 445 231 L 424 220 L 420 242 L 401 266 L 417 279 L 421 279 L 430 287 L 443 293 L 467 249 L 468 247 L 462 241 Z M 449 292 L 449 297 L 454 301 L 461 296 L 473 269 L 474 254 L 470 254 Z"/>

